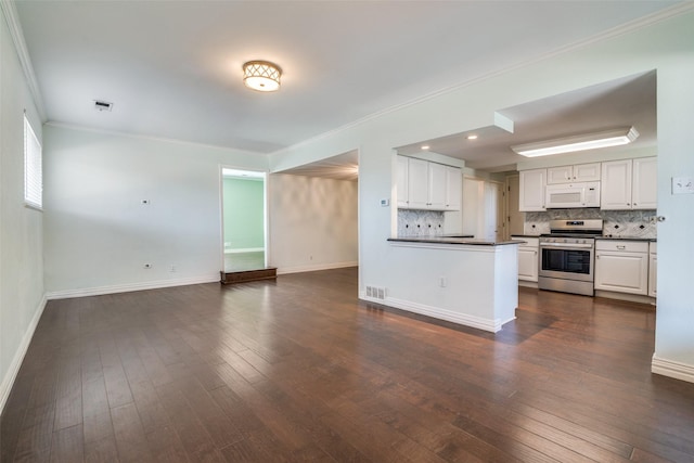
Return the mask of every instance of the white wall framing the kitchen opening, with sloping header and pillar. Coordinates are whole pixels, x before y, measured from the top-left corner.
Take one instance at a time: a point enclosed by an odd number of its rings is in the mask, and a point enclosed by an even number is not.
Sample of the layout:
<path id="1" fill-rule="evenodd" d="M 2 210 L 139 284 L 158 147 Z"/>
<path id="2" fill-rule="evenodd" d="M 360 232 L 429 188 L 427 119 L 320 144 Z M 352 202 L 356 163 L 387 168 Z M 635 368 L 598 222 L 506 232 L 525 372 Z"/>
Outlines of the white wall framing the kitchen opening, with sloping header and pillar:
<path id="1" fill-rule="evenodd" d="M 270 166 L 278 170 L 360 150 L 360 291 L 365 285 L 385 286 L 397 298 L 408 291 L 402 284 L 403 270 L 388 259 L 386 239 L 397 215 L 393 207 L 378 205 L 378 198 L 391 197 L 394 146 L 486 127 L 499 108 L 657 69 L 659 214 L 668 219 L 658 229 L 656 357 L 680 365 L 680 372 L 694 381 L 694 298 L 690 294 L 694 196 L 672 196 L 668 187 L 672 176 L 694 176 L 692 43 L 694 13 L 690 8 L 678 16 L 615 34 L 277 153 Z"/>

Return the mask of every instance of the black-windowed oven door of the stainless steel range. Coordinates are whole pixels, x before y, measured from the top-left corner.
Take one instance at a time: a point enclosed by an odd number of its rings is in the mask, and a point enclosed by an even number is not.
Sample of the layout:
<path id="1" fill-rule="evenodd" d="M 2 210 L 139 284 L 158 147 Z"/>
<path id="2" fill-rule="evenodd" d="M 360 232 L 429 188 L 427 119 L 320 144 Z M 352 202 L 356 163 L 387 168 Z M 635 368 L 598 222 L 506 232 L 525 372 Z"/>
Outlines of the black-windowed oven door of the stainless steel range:
<path id="1" fill-rule="evenodd" d="M 593 249 L 592 244 L 540 242 L 539 275 L 592 282 Z"/>

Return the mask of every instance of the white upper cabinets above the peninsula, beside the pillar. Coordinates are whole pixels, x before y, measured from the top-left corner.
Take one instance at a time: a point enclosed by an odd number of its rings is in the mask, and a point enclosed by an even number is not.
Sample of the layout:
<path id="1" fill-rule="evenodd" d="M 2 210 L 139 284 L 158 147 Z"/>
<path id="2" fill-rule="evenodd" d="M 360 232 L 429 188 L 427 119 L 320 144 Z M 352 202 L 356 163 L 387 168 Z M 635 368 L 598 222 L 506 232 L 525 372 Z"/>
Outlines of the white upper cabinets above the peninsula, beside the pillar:
<path id="1" fill-rule="evenodd" d="M 460 210 L 460 168 L 407 156 L 397 156 L 397 166 L 400 209 Z"/>

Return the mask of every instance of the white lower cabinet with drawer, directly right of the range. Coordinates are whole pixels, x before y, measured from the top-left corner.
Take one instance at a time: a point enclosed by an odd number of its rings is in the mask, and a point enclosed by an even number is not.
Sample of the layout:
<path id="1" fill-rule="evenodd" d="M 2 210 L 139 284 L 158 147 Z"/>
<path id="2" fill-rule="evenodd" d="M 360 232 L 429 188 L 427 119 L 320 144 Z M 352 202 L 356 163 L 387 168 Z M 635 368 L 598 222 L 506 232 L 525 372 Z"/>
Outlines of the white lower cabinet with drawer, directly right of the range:
<path id="1" fill-rule="evenodd" d="M 648 242 L 595 241 L 595 290 L 648 294 Z"/>

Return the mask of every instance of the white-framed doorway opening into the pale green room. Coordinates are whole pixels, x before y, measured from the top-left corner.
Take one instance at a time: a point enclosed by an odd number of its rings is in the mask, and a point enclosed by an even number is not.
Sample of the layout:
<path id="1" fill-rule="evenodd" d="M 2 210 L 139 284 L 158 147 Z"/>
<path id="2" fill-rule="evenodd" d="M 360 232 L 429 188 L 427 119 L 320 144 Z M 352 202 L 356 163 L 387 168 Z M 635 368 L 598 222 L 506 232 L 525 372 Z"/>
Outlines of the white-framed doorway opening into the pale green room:
<path id="1" fill-rule="evenodd" d="M 224 272 L 267 267 L 266 173 L 221 169 Z"/>

